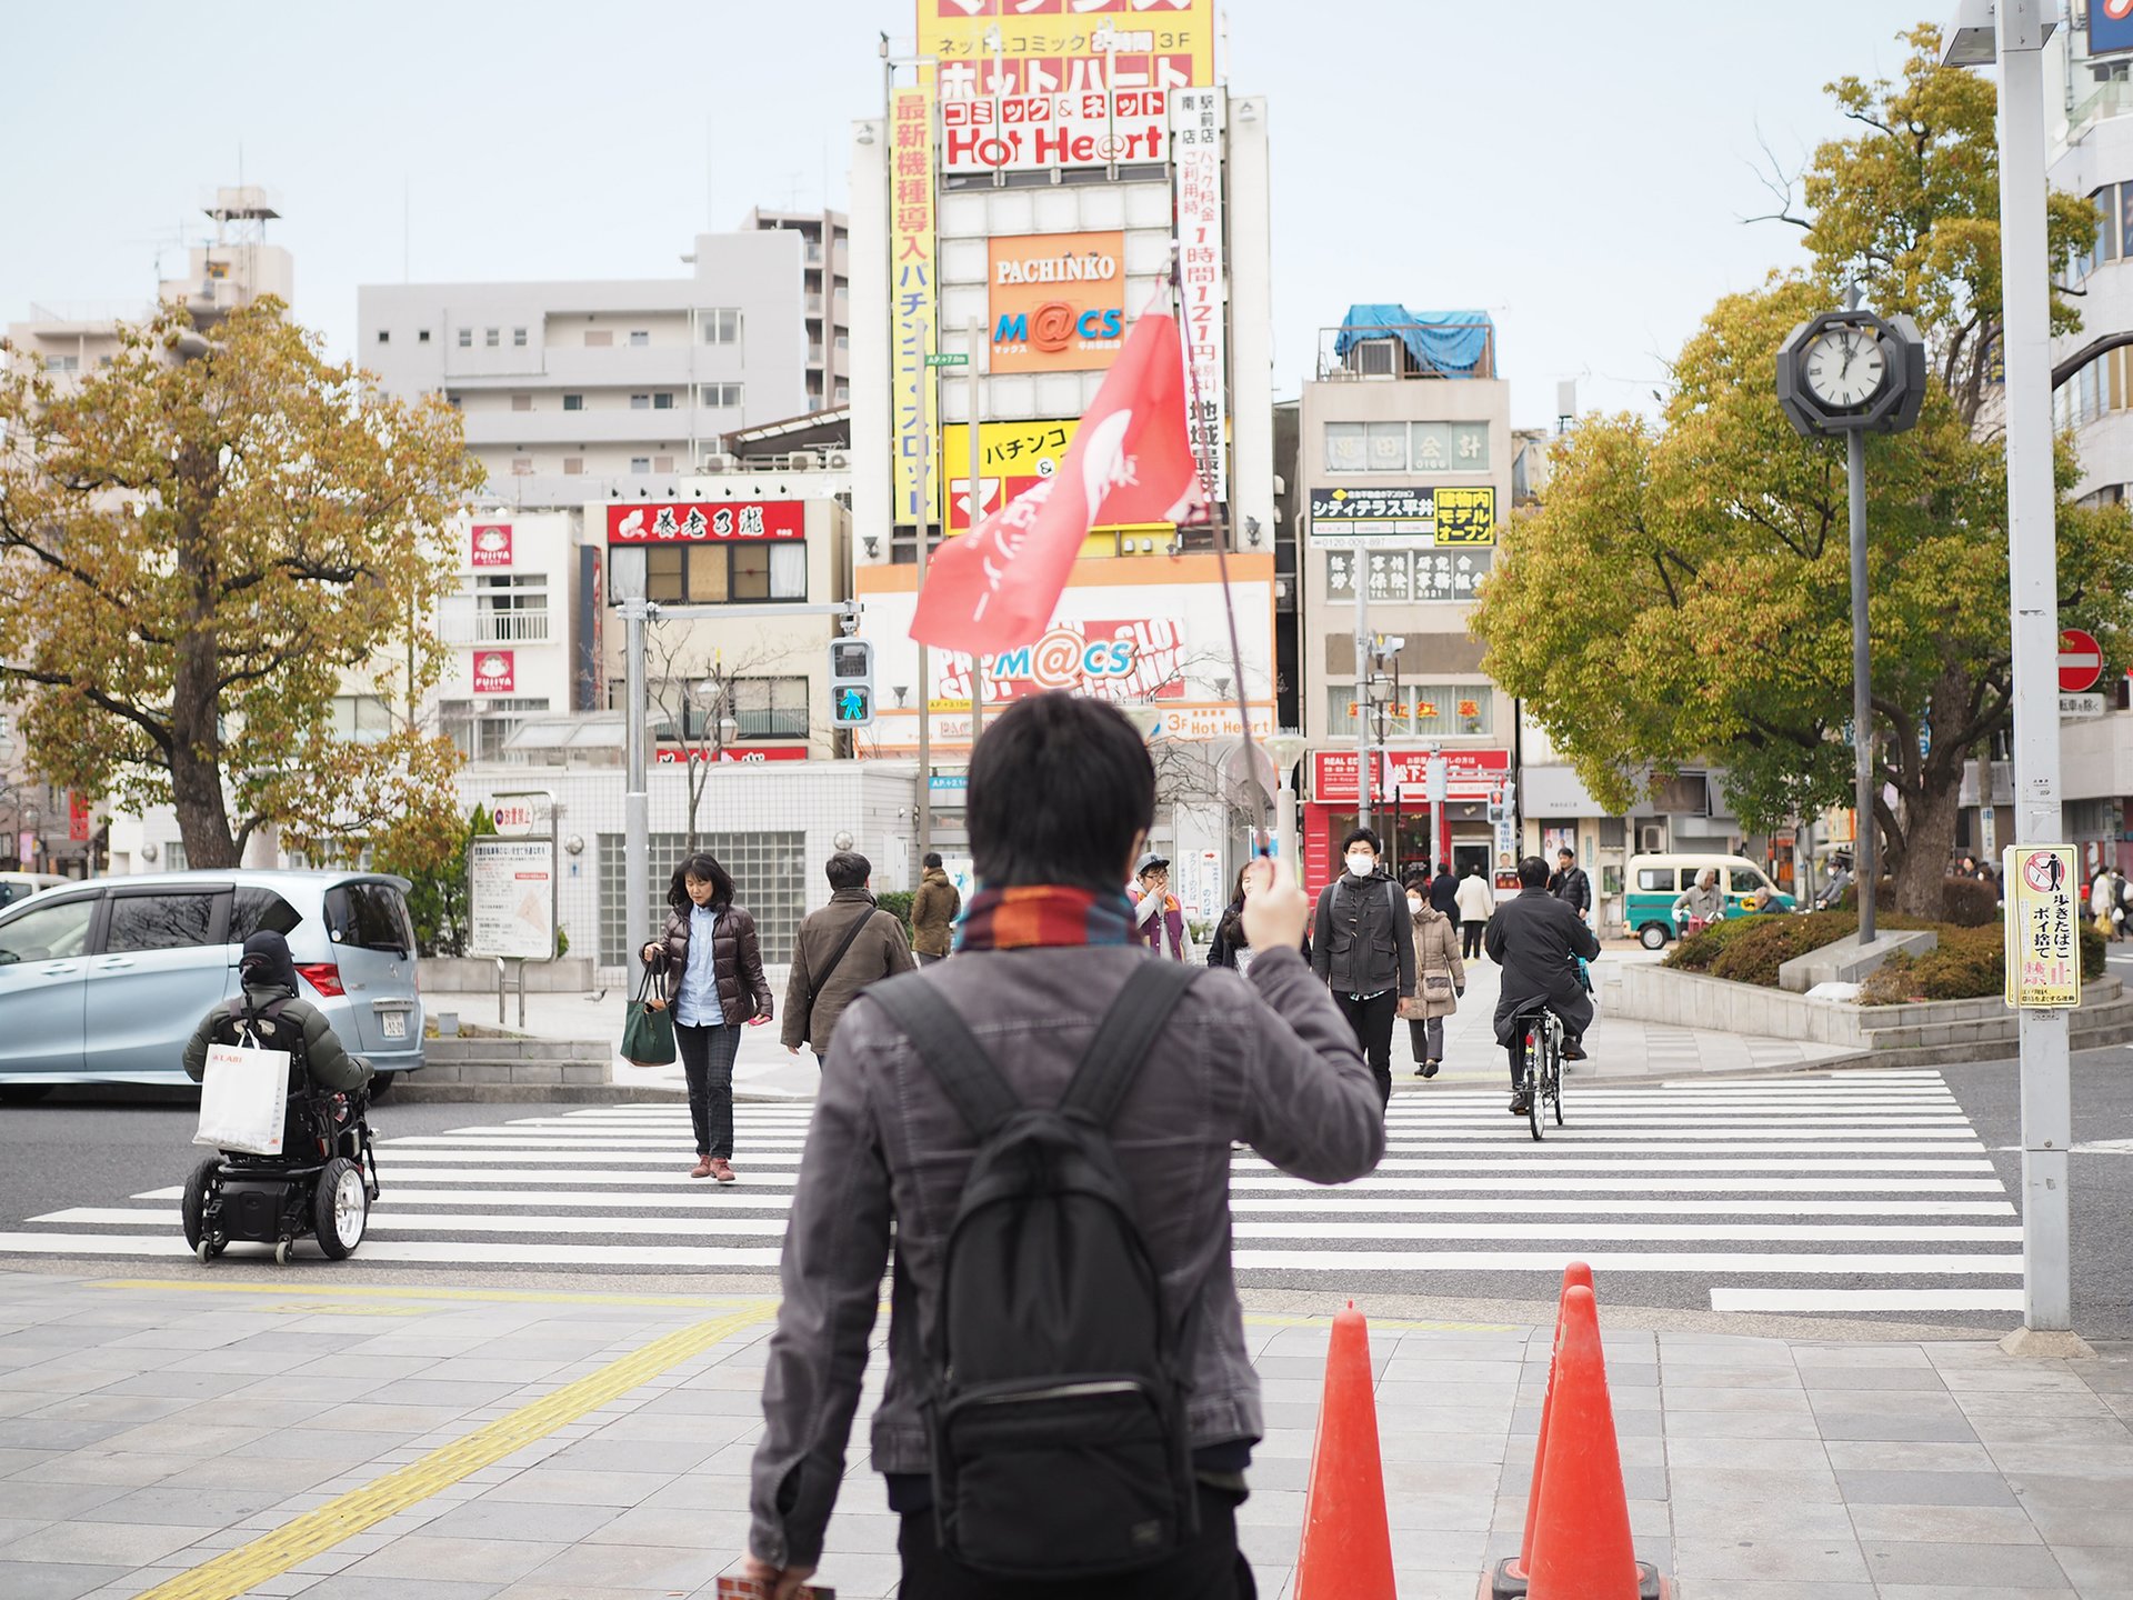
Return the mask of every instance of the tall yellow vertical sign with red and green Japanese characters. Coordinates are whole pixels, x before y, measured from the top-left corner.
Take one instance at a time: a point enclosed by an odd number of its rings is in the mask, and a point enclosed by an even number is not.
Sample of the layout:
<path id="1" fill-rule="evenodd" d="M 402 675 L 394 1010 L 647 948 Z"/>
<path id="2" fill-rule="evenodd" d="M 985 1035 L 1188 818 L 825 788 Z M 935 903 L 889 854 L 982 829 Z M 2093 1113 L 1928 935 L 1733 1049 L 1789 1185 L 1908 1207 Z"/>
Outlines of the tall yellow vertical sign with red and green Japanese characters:
<path id="1" fill-rule="evenodd" d="M 926 450 L 936 399 L 926 356 L 934 352 L 934 160 L 932 92 L 898 90 L 889 107 L 889 316 L 896 348 L 896 523 L 921 527 L 936 503 L 926 493 Z"/>

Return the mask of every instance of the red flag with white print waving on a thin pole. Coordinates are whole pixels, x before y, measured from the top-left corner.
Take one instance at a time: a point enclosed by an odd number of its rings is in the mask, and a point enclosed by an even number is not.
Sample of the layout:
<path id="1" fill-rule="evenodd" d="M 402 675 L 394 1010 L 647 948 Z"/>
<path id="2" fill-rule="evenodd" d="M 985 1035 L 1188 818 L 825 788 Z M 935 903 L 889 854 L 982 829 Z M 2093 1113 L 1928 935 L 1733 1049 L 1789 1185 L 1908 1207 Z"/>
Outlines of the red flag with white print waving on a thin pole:
<path id="1" fill-rule="evenodd" d="M 1203 503 L 1177 322 L 1150 311 L 1126 335 L 1060 469 L 932 557 L 911 638 L 968 655 L 1028 644 L 1052 625 L 1098 521 L 1175 523 Z"/>

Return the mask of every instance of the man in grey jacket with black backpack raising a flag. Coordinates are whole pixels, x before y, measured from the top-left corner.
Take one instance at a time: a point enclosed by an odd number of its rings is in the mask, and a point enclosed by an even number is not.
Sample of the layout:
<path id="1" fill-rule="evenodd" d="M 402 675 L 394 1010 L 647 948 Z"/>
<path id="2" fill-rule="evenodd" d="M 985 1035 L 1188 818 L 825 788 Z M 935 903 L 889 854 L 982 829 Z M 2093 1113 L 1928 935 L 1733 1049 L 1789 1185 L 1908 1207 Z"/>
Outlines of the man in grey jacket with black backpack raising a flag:
<path id="1" fill-rule="evenodd" d="M 1248 1600 L 1261 1436 L 1231 1269 L 1231 1141 L 1286 1173 L 1378 1165 L 1378 1094 L 1248 881 L 1250 975 L 1148 960 L 1120 883 L 1154 770 L 1101 700 L 1017 702 L 971 762 L 979 890 L 956 960 L 860 996 L 823 1062 L 764 1374 L 747 1574 L 821 1557 L 894 1248 L 872 1466 L 902 1600 Z"/>

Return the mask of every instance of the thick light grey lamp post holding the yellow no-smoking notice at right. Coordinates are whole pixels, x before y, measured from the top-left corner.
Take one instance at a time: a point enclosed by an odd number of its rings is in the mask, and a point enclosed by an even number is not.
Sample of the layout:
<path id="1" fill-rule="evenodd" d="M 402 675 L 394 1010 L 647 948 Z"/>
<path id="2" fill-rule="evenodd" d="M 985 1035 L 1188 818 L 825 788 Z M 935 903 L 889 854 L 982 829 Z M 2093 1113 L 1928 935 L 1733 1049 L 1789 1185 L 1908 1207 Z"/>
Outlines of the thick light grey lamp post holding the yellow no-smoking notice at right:
<path id="1" fill-rule="evenodd" d="M 2007 361 L 2007 610 L 2016 841 L 2060 838 L 2058 544 L 2052 482 L 2052 290 L 2043 205 L 2043 0 L 1964 0 L 1947 66 L 1999 60 L 2001 350 Z M 1990 781 L 1990 762 L 1982 764 Z M 1990 798 L 1990 783 L 1988 796 Z M 2011 905 L 2011 896 L 2009 896 Z M 2086 1353 L 2073 1333 L 2067 1013 L 2022 1007 L 2022 1329 L 2009 1348 Z"/>

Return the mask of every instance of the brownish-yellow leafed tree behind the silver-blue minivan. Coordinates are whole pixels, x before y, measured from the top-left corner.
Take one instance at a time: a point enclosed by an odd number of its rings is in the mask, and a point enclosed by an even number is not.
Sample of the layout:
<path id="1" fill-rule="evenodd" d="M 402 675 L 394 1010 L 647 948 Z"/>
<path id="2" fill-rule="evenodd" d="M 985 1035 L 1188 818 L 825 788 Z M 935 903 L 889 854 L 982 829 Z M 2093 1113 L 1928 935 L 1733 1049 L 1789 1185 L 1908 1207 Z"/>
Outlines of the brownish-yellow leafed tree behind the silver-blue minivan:
<path id="1" fill-rule="evenodd" d="M 166 307 L 79 386 L 6 354 L 0 691 L 36 770 L 171 802 L 194 866 L 267 826 L 326 860 L 448 849 L 459 762 L 414 708 L 480 484 L 459 414 L 326 363 L 273 299 L 205 339 Z M 335 738 L 348 672 L 399 710 L 388 738 Z"/>

